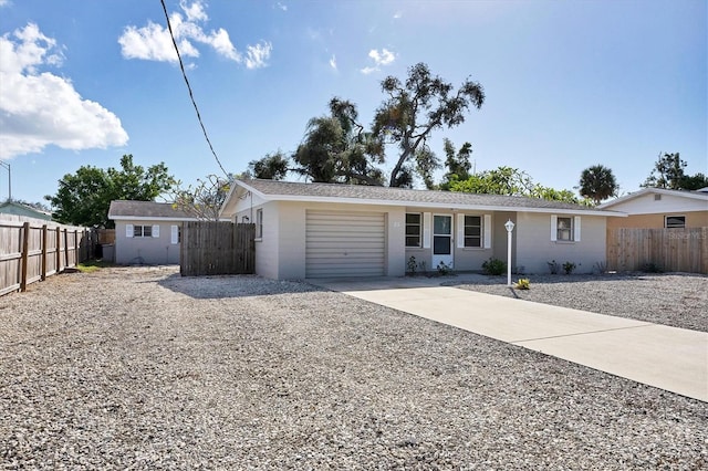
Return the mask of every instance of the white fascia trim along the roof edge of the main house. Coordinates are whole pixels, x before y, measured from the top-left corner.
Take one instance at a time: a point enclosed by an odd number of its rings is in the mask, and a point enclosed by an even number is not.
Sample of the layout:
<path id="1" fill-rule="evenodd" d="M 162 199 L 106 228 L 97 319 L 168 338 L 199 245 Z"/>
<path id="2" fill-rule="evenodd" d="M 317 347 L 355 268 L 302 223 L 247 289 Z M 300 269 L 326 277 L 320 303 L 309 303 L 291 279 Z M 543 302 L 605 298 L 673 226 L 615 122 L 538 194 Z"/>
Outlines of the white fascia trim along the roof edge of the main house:
<path id="1" fill-rule="evenodd" d="M 541 213 L 560 213 L 560 214 L 587 214 L 587 216 L 613 216 L 618 218 L 626 218 L 626 212 L 618 211 L 596 211 L 593 209 L 573 210 L 568 208 L 528 208 L 518 206 L 493 206 L 493 205 L 440 205 L 435 202 L 417 202 L 417 201 L 398 201 L 398 200 L 381 200 L 381 199 L 362 199 L 362 198 L 331 198 L 331 197 L 316 197 L 316 196 L 293 196 L 293 195 L 269 195 L 263 193 L 250 187 L 242 181 L 237 184 L 241 185 L 244 189 L 251 191 L 253 195 L 262 198 L 267 201 L 303 201 L 303 202 L 337 202 L 345 205 L 381 205 L 381 206 L 396 206 L 396 207 L 416 207 L 416 208 L 449 208 L 451 210 L 487 210 L 487 211 L 513 211 L 513 212 L 541 212 Z M 235 187 L 236 188 L 236 187 Z M 229 199 L 230 200 L 230 199 Z"/>

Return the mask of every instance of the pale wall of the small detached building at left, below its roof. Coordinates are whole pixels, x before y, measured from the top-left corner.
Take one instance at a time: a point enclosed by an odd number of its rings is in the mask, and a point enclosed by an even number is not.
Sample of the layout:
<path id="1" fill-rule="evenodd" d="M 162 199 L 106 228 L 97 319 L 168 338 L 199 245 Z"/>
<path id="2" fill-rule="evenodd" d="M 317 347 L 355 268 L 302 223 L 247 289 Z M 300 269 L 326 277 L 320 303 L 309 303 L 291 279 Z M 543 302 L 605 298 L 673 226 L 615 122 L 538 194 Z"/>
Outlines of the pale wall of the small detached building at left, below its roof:
<path id="1" fill-rule="evenodd" d="M 126 224 L 159 226 L 157 238 L 128 238 Z M 144 263 L 164 265 L 179 263 L 179 244 L 171 243 L 171 227 L 181 226 L 178 221 L 116 221 L 115 222 L 115 262 L 123 265 Z"/>

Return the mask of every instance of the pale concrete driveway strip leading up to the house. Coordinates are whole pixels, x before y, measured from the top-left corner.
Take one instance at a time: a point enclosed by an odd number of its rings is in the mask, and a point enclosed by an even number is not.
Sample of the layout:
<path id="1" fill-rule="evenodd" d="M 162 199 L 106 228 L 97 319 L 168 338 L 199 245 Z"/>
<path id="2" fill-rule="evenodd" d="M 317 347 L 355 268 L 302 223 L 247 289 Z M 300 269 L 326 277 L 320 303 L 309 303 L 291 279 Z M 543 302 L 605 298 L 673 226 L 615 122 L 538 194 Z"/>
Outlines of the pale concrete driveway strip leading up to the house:
<path id="1" fill-rule="evenodd" d="M 708 401 L 705 332 L 440 286 L 435 279 L 308 282 Z"/>

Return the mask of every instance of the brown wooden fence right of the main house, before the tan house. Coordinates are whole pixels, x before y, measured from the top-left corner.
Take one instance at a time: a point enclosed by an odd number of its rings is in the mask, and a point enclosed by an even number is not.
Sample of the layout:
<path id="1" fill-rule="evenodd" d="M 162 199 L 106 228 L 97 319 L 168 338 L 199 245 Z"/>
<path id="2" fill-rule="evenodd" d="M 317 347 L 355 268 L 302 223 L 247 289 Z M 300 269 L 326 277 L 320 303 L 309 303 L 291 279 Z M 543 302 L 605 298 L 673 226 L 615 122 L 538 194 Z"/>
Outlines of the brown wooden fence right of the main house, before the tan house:
<path id="1" fill-rule="evenodd" d="M 708 228 L 610 229 L 607 269 L 708 273 Z"/>

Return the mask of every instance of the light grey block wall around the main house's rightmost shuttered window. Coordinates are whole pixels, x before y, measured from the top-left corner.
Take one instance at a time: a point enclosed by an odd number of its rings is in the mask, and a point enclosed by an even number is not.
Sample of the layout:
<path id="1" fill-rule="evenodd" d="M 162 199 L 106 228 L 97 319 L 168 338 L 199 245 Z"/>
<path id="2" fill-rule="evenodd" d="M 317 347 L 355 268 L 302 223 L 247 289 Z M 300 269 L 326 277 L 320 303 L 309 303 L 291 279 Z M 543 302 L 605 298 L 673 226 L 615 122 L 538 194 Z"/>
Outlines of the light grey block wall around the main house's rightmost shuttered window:
<path id="1" fill-rule="evenodd" d="M 524 273 L 549 273 L 548 262 L 555 260 L 575 263 L 574 273 L 591 273 L 595 263 L 606 261 L 606 218 L 580 216 L 580 242 L 560 242 L 551 240 L 550 214 L 519 212 L 512 265 L 523 266 Z"/>

